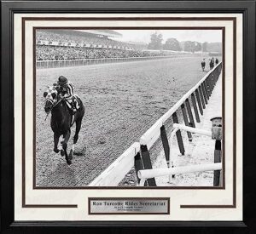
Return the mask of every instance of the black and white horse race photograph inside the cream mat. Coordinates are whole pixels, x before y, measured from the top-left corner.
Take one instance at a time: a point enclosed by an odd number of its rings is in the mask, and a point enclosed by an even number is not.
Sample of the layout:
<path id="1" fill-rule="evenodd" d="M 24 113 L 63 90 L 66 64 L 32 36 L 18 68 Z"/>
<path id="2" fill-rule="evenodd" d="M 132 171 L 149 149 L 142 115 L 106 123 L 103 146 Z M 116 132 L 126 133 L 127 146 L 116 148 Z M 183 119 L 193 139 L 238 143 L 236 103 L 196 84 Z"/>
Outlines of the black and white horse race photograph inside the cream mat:
<path id="1" fill-rule="evenodd" d="M 34 186 L 222 186 L 223 33 L 37 28 Z"/>

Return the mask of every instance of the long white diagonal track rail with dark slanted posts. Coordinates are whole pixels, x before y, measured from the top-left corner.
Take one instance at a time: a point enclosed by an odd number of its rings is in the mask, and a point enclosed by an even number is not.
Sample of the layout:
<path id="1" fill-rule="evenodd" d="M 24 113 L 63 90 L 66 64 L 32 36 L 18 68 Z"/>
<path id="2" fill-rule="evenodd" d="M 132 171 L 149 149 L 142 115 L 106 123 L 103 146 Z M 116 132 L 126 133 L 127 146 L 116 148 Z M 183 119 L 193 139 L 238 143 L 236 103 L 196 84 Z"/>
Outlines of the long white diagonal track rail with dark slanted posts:
<path id="1" fill-rule="evenodd" d="M 154 145 L 154 142 L 161 137 L 161 140 L 163 142 L 163 147 L 165 150 L 165 155 L 166 155 L 166 162 L 167 165 L 169 165 L 169 159 L 170 159 L 170 146 L 168 145 L 168 140 L 166 139 L 166 130 L 165 130 L 165 123 L 166 120 L 168 120 L 170 117 L 173 118 L 173 122 L 177 123 L 177 115 L 176 112 L 179 108 L 183 108 L 184 103 L 187 106 L 187 109 L 189 111 L 190 106 L 189 106 L 189 97 L 195 95 L 197 97 L 197 106 L 199 107 L 199 111 L 201 114 L 203 113 L 202 107 L 206 108 L 207 100 L 212 94 L 212 89 L 215 86 L 215 83 L 218 80 L 220 71 L 222 69 L 222 63 L 219 63 L 218 66 L 215 66 L 211 71 L 209 71 L 204 77 L 201 78 L 201 80 L 195 84 L 193 88 L 189 90 L 186 94 L 183 95 L 183 97 L 177 101 L 177 103 L 172 106 L 172 108 L 166 112 L 160 119 L 154 123 L 154 125 L 149 128 L 145 134 L 140 138 L 139 142 L 133 143 L 120 157 L 118 157 L 106 170 L 102 172 L 98 177 L 96 177 L 95 180 L 93 180 L 89 186 L 116 186 L 119 184 L 121 180 L 124 179 L 125 175 L 131 170 L 131 168 L 135 167 L 135 170 L 137 172 L 137 177 L 138 177 L 138 182 L 140 181 L 140 178 L 146 179 L 146 176 L 143 175 L 143 171 L 148 173 L 148 171 L 152 171 L 152 165 L 150 162 L 150 156 L 148 150 Z M 192 97 L 192 100 L 195 100 L 195 96 Z M 200 98 L 198 98 L 200 96 Z M 195 102 L 193 103 L 195 105 Z M 197 106 L 194 106 L 194 111 L 197 110 Z M 192 112 L 190 110 L 189 112 L 189 118 L 193 118 Z M 185 119 L 188 119 L 188 117 L 184 116 L 184 122 L 186 123 Z M 197 120 L 200 119 L 199 117 L 196 118 Z M 186 123 L 187 125 L 187 123 Z M 195 126 L 194 126 L 195 127 Z M 185 127 L 186 128 L 186 127 Z M 191 130 L 191 128 L 186 128 L 187 130 Z M 184 149 L 182 149 L 183 142 L 182 139 L 178 137 L 178 132 L 177 130 L 177 141 L 179 145 L 179 149 L 181 153 L 183 154 Z M 193 132 L 191 130 L 191 132 Z M 209 133 L 207 133 L 209 134 Z M 180 136 L 181 137 L 181 136 Z M 181 141 L 180 141 L 181 140 Z M 183 151 L 182 151 L 183 150 Z M 215 163 L 216 165 L 208 165 L 210 167 L 210 170 L 212 168 L 218 167 L 218 163 Z M 203 169 L 204 165 L 200 165 L 199 168 Z M 164 172 L 166 173 L 171 173 L 172 170 L 174 171 L 173 168 L 168 168 Z M 178 170 L 178 168 L 176 169 Z M 189 168 L 183 168 L 183 171 L 189 171 L 191 169 Z M 158 169 L 158 171 L 153 171 L 153 173 L 158 174 L 162 173 L 163 169 Z M 178 174 L 178 172 L 174 173 Z M 156 175 L 158 176 L 158 175 Z M 154 181 L 154 176 L 148 177 L 148 180 L 145 180 L 145 185 L 153 185 L 155 186 L 155 181 Z M 151 179 L 150 179 L 151 178 Z M 153 179 L 152 179 L 153 178 Z M 143 183 L 144 185 L 144 183 Z"/>

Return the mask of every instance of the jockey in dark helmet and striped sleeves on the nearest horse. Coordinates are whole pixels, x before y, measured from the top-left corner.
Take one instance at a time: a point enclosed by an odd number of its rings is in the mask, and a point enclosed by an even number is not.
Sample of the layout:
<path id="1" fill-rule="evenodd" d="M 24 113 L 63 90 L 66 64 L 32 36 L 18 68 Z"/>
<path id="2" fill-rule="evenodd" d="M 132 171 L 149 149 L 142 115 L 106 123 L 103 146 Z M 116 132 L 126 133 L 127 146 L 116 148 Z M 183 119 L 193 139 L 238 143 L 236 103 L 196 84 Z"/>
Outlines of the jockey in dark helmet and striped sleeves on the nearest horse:
<path id="1" fill-rule="evenodd" d="M 69 106 L 73 113 L 77 111 L 76 109 L 76 99 L 73 92 L 73 83 L 71 83 L 66 77 L 61 76 L 58 79 L 57 85 L 59 86 L 59 92 L 61 98 L 67 101 L 67 106 Z"/>

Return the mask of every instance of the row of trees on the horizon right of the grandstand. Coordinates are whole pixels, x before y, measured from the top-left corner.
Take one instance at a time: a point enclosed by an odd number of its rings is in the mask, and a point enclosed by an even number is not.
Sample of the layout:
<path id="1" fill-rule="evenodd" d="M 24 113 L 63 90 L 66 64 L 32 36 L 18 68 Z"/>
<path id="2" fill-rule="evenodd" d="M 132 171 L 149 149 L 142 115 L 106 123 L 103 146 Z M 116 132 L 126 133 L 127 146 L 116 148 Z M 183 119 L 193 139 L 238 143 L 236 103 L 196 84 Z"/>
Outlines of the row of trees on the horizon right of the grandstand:
<path id="1" fill-rule="evenodd" d="M 168 38 L 166 43 L 163 43 L 163 35 L 154 32 L 150 36 L 150 43 L 148 49 L 165 49 L 174 51 L 187 51 L 187 52 L 221 52 L 221 43 L 200 43 L 193 41 L 179 42 L 176 38 Z"/>

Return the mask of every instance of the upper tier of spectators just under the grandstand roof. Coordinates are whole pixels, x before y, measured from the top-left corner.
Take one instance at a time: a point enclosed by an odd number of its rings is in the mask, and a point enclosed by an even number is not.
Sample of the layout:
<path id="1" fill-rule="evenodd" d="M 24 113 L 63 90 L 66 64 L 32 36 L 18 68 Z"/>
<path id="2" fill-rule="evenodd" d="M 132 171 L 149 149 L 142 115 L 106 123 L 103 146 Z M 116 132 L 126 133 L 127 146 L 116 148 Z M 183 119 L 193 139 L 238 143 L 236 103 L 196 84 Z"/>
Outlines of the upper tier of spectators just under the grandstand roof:
<path id="1" fill-rule="evenodd" d="M 130 43 L 122 43 L 108 37 L 96 36 L 90 33 L 81 33 L 79 31 L 70 31 L 66 30 L 38 30 L 37 31 L 37 40 L 42 41 L 51 41 L 51 42 L 61 42 L 61 43 L 85 43 L 85 44 L 96 44 L 96 45 L 107 45 L 107 46 L 120 46 L 120 47 L 129 47 L 132 48 L 133 45 Z"/>

